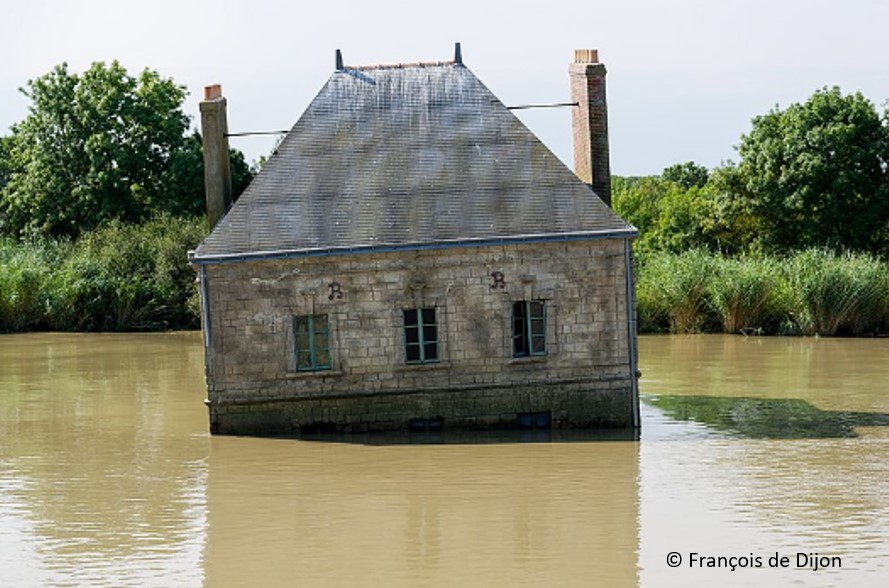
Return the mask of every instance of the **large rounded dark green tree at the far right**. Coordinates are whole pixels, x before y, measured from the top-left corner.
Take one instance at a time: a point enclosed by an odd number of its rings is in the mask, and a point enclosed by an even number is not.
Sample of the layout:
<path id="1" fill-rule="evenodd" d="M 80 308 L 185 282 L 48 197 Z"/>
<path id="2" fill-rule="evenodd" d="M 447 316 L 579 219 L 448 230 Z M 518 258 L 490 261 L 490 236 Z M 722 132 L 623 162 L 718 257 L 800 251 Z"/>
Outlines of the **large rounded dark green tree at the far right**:
<path id="1" fill-rule="evenodd" d="M 889 127 L 861 93 L 815 92 L 753 119 L 733 171 L 768 250 L 876 251 L 889 226 Z"/>

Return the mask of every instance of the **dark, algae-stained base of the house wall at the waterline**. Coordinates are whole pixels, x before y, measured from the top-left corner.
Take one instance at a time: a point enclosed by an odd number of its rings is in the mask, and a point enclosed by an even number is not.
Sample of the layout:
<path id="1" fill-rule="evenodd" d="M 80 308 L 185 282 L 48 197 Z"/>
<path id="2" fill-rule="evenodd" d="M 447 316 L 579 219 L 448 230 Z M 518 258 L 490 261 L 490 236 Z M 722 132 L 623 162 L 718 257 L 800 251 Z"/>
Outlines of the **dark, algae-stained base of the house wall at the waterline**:
<path id="1" fill-rule="evenodd" d="M 410 391 L 210 404 L 221 435 L 300 435 L 498 428 L 631 428 L 627 380 Z"/>

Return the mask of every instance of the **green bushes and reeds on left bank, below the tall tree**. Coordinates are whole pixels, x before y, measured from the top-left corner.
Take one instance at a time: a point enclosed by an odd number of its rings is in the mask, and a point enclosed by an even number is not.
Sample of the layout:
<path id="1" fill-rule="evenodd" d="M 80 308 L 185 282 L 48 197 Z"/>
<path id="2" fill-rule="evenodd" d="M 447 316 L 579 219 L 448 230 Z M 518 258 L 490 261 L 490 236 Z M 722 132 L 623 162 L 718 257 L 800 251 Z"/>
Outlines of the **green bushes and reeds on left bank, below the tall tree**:
<path id="1" fill-rule="evenodd" d="M 200 324 L 186 252 L 203 219 L 111 223 L 76 243 L 0 243 L 0 330 L 123 331 Z"/>

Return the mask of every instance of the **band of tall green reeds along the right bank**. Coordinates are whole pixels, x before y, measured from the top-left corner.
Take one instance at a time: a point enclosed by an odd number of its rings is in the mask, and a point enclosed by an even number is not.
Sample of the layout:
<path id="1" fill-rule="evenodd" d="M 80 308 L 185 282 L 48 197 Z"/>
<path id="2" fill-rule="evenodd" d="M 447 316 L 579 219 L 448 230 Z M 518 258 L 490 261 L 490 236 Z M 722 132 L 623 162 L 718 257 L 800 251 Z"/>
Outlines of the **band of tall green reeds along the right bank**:
<path id="1" fill-rule="evenodd" d="M 703 249 L 637 257 L 640 332 L 889 334 L 889 263 L 806 249 L 727 256 Z"/>

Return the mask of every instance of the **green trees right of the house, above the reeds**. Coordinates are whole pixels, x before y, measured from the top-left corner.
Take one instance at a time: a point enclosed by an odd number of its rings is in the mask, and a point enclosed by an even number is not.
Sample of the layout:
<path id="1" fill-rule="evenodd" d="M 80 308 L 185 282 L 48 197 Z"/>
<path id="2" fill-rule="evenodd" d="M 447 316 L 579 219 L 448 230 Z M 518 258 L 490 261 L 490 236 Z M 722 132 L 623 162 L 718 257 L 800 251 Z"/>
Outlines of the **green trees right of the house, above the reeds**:
<path id="1" fill-rule="evenodd" d="M 860 93 L 816 92 L 753 119 L 741 160 L 615 178 L 615 210 L 638 248 L 779 253 L 810 247 L 889 254 L 889 114 Z"/>

